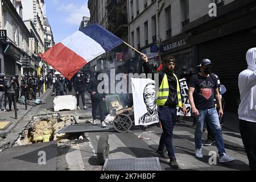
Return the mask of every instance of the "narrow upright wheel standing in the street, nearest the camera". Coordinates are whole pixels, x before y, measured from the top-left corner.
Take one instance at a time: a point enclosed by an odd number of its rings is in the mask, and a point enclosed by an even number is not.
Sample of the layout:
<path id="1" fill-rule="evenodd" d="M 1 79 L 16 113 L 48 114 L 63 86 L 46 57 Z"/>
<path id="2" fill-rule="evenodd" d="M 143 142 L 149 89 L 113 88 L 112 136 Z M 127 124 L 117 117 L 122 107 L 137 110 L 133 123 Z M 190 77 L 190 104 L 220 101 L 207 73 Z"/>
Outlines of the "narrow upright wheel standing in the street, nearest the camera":
<path id="1" fill-rule="evenodd" d="M 101 135 L 98 139 L 97 158 L 98 163 L 103 166 L 105 160 L 109 158 L 109 135 Z"/>

